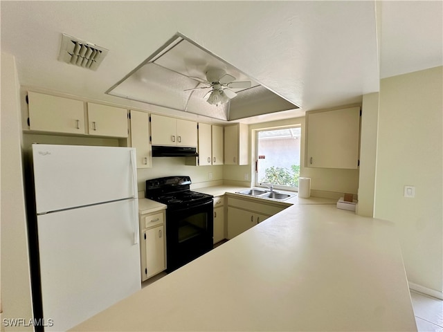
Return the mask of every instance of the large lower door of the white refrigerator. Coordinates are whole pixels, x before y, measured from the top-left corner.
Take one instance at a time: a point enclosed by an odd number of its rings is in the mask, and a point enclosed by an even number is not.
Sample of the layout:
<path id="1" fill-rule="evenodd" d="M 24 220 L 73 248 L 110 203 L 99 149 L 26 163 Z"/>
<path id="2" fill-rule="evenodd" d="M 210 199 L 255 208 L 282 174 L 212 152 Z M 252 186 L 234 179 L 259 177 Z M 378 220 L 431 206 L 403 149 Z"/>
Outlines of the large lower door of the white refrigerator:
<path id="1" fill-rule="evenodd" d="M 66 331 L 141 289 L 136 199 L 37 216 L 45 331 Z"/>

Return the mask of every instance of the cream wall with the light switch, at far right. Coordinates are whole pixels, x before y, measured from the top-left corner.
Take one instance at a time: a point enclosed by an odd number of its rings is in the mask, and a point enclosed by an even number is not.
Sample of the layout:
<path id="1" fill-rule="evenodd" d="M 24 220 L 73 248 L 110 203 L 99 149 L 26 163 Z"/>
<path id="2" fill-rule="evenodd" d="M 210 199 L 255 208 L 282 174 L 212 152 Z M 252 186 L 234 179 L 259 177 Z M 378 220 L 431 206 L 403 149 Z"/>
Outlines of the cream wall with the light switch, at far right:
<path id="1" fill-rule="evenodd" d="M 443 67 L 381 80 L 374 216 L 397 224 L 408 281 L 443 291 Z M 415 186 L 415 198 L 404 197 Z"/>

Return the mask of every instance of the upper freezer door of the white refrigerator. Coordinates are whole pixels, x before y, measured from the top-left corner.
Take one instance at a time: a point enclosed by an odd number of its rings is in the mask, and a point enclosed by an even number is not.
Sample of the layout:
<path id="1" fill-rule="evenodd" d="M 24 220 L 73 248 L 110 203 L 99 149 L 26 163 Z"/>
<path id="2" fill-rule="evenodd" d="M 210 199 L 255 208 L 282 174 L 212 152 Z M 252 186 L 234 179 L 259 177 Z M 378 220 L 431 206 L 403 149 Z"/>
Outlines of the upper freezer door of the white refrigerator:
<path id="1" fill-rule="evenodd" d="M 136 198 L 134 152 L 127 147 L 33 145 L 37 214 Z"/>

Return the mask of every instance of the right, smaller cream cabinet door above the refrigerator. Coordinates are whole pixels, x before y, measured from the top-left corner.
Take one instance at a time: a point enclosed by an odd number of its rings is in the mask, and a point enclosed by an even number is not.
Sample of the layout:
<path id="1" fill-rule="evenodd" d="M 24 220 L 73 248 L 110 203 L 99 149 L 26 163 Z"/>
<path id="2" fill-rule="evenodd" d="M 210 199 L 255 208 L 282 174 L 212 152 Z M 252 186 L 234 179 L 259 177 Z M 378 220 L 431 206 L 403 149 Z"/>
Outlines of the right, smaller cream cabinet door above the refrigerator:
<path id="1" fill-rule="evenodd" d="M 88 102 L 89 135 L 127 137 L 127 110 Z"/>

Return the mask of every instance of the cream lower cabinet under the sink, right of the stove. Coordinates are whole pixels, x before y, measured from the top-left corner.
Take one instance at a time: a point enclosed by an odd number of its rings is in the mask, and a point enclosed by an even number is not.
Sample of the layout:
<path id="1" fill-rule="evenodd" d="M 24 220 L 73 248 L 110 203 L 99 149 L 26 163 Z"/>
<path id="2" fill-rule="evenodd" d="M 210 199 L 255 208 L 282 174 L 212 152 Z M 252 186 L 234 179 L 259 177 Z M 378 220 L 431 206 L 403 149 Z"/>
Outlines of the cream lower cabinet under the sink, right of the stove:
<path id="1" fill-rule="evenodd" d="M 262 199 L 243 199 L 239 196 L 228 196 L 227 238 L 236 237 L 288 206 Z"/>

